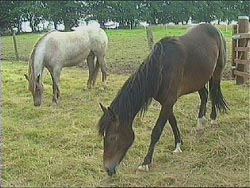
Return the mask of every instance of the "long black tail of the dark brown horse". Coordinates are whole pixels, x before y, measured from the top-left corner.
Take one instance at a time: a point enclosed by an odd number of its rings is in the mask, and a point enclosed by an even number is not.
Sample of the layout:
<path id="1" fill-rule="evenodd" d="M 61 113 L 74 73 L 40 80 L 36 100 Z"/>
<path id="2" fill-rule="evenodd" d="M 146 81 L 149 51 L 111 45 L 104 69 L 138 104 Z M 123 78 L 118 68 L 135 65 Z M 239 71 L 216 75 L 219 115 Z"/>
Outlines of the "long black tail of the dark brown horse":
<path id="1" fill-rule="evenodd" d="M 226 112 L 229 110 L 228 104 L 225 100 L 225 98 L 222 95 L 221 92 L 221 78 L 222 78 L 222 72 L 226 65 L 226 41 L 223 37 L 222 33 L 218 30 L 219 33 L 219 56 L 217 59 L 217 64 L 214 70 L 214 73 L 212 75 L 212 78 L 209 80 L 209 95 L 210 100 L 212 101 L 212 104 L 215 105 L 215 107 L 221 112 Z"/>

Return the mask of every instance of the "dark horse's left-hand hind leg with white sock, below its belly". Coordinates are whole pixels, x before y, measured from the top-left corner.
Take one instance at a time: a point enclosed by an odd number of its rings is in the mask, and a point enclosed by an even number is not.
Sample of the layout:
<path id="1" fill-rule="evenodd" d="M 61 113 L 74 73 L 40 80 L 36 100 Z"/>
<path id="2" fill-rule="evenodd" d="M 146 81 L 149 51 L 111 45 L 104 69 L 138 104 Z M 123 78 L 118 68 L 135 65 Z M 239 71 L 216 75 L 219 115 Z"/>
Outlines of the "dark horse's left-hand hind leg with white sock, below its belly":
<path id="1" fill-rule="evenodd" d="M 200 95 L 201 104 L 200 104 L 200 110 L 199 110 L 198 120 L 197 120 L 197 129 L 202 129 L 207 124 L 207 119 L 205 116 L 206 116 L 206 104 L 207 104 L 207 98 L 208 98 L 208 90 L 206 86 L 200 89 L 198 93 Z"/>

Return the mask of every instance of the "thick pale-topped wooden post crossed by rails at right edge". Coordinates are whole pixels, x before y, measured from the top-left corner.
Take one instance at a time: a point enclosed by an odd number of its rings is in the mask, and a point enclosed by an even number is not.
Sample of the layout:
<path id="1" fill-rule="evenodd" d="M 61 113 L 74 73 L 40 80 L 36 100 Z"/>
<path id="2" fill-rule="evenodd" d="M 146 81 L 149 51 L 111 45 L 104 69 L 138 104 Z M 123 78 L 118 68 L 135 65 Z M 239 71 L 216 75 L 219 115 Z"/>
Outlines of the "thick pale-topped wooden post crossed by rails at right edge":
<path id="1" fill-rule="evenodd" d="M 248 16 L 239 16 L 238 17 L 238 33 L 248 33 L 249 32 L 249 17 Z M 247 44 L 247 39 L 239 39 L 238 46 L 245 47 Z M 247 60 L 247 51 L 240 51 L 238 53 L 238 58 L 242 60 Z M 237 71 L 247 72 L 248 66 L 244 64 L 238 64 L 236 67 Z M 236 77 L 236 84 L 244 84 L 246 82 L 246 78 L 243 76 Z"/>

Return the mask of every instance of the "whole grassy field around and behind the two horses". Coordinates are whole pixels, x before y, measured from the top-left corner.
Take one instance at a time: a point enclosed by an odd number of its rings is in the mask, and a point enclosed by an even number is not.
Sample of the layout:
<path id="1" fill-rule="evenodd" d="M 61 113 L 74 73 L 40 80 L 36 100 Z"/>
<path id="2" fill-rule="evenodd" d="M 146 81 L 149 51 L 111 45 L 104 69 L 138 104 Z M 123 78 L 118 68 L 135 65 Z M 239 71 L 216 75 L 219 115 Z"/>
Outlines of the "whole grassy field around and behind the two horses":
<path id="1" fill-rule="evenodd" d="M 153 30 L 155 41 L 181 35 L 185 29 Z M 122 161 L 118 174 L 108 177 L 102 168 L 103 144 L 96 124 L 102 115 L 99 102 L 108 106 L 117 91 L 148 54 L 146 32 L 109 30 L 108 88 L 86 89 L 86 65 L 66 68 L 61 75 L 60 106 L 51 105 L 51 79 L 44 78 L 44 104 L 33 106 L 26 60 L 42 34 L 17 36 L 20 57 L 15 62 L 11 37 L 2 37 L 2 186 L 249 186 L 249 87 L 230 80 L 231 31 L 224 32 L 228 65 L 222 90 L 230 105 L 220 115 L 219 126 L 196 134 L 199 96 L 180 98 L 175 113 L 181 129 L 183 153 L 173 154 L 174 139 L 167 124 L 158 143 L 150 172 L 137 172 L 150 142 L 160 105 L 153 101 L 144 117 L 134 121 L 135 142 Z M 210 113 L 208 103 L 208 114 Z"/>

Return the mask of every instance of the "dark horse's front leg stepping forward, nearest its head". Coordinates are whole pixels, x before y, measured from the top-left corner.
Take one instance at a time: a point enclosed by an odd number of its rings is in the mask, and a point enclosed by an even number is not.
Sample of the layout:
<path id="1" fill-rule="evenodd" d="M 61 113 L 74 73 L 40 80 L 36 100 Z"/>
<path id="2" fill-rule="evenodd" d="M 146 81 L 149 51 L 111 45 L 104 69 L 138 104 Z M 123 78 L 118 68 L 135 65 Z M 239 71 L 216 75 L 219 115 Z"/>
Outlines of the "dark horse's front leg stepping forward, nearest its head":
<path id="1" fill-rule="evenodd" d="M 143 170 L 143 171 L 148 171 L 151 164 L 152 164 L 152 158 L 153 158 L 153 153 L 155 149 L 156 143 L 159 141 L 160 136 L 162 134 L 162 130 L 169 118 L 169 115 L 171 113 L 171 108 L 172 107 L 162 107 L 160 115 L 156 121 L 156 124 L 152 130 L 151 133 L 151 142 L 149 145 L 148 153 L 146 157 L 144 158 L 143 163 L 138 167 L 138 170 Z"/>

